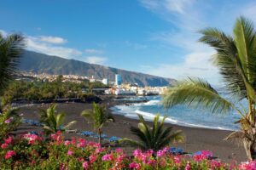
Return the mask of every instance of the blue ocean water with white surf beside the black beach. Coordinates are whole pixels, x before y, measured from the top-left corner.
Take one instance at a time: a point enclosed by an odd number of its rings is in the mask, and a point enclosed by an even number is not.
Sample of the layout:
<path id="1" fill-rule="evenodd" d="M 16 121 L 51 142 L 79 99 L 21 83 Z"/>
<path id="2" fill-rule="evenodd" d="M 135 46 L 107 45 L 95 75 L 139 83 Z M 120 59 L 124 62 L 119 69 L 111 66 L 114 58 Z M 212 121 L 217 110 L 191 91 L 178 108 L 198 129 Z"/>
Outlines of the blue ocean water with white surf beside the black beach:
<path id="1" fill-rule="evenodd" d="M 209 111 L 200 109 L 189 109 L 183 105 L 177 105 L 166 110 L 161 105 L 161 96 L 147 96 L 148 102 L 136 103 L 133 105 L 115 105 L 111 108 L 113 114 L 137 119 L 137 114 L 143 115 L 148 121 L 153 121 L 154 115 L 168 116 L 166 122 L 186 127 L 203 127 L 219 130 L 238 130 L 239 124 L 235 124 L 240 116 L 234 111 L 230 114 L 212 114 Z M 131 100 L 145 98 L 134 97 Z"/>

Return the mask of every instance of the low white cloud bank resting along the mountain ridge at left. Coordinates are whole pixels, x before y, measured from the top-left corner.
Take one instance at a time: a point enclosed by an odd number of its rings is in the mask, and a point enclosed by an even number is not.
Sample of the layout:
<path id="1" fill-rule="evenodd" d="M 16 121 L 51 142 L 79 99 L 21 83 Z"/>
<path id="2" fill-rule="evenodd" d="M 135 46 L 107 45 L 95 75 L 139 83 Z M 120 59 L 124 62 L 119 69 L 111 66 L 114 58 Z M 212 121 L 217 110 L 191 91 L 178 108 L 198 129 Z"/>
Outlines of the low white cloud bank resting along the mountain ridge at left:
<path id="1" fill-rule="evenodd" d="M 27 37 L 27 48 L 43 54 L 56 55 L 66 59 L 77 59 L 82 52 L 74 48 L 55 46 L 49 42 L 42 42 L 38 37 Z"/>

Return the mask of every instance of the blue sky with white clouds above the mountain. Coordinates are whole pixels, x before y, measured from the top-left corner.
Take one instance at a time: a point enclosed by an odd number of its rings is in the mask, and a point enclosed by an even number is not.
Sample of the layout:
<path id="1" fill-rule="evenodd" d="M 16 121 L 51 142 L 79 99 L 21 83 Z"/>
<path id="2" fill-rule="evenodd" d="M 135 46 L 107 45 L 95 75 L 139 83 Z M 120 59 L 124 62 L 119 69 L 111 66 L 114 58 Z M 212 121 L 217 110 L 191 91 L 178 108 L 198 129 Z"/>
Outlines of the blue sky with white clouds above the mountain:
<path id="1" fill-rule="evenodd" d="M 177 80 L 218 84 L 212 48 L 199 31 L 228 34 L 239 16 L 256 23 L 254 0 L 9 0 L 0 32 L 20 32 L 39 53 Z"/>

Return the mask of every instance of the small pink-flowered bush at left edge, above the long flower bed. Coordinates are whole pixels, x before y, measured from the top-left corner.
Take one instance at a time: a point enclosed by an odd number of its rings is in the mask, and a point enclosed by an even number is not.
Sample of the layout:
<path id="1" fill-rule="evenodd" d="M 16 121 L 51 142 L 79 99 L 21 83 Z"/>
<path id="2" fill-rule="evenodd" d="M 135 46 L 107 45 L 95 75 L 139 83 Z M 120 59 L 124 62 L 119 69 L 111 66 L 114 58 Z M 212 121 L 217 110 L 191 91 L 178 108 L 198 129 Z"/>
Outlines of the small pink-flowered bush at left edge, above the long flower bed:
<path id="1" fill-rule="evenodd" d="M 20 125 L 17 109 L 6 108 L 0 113 L 0 141 Z"/>

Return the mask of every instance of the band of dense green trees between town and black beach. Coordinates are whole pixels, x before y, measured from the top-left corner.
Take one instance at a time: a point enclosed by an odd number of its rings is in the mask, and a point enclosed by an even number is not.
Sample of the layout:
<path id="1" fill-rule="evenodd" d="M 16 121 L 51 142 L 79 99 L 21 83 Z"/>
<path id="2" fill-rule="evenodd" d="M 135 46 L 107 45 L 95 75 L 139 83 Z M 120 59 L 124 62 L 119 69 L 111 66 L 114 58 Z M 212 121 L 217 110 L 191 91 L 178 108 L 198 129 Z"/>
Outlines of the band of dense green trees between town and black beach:
<path id="1" fill-rule="evenodd" d="M 13 81 L 4 90 L 3 102 L 5 104 L 11 103 L 15 99 L 41 100 L 41 99 L 93 99 L 95 94 L 82 92 L 82 88 L 89 88 L 91 82 L 41 82 L 35 80 L 34 82 Z M 97 84 L 97 86 L 100 86 Z"/>

